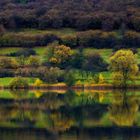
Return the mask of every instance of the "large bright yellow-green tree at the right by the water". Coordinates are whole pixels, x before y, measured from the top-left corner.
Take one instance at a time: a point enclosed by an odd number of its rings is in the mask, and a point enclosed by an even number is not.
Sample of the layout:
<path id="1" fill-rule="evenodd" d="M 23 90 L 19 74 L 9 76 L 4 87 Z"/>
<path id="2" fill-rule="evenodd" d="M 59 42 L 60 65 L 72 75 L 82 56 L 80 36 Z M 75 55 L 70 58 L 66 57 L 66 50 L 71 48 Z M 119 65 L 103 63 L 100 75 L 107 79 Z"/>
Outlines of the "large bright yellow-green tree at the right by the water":
<path id="1" fill-rule="evenodd" d="M 115 86 L 126 87 L 128 81 L 134 81 L 139 68 L 131 50 L 119 50 L 110 58 L 110 70 Z"/>

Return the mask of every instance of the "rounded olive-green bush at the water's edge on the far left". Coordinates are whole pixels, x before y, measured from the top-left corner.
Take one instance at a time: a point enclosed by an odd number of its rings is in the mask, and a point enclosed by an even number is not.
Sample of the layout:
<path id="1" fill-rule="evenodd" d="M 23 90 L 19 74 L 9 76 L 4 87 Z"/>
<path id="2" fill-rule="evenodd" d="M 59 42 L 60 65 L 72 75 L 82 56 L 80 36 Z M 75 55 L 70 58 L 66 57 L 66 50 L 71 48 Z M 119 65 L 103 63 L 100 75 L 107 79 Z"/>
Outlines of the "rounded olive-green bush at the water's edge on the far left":
<path id="1" fill-rule="evenodd" d="M 27 89 L 29 87 L 29 84 L 28 81 L 25 80 L 24 78 L 16 77 L 10 82 L 9 87 L 11 89 L 20 89 L 20 88 Z"/>

